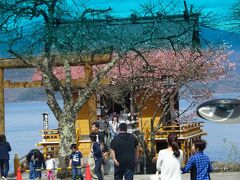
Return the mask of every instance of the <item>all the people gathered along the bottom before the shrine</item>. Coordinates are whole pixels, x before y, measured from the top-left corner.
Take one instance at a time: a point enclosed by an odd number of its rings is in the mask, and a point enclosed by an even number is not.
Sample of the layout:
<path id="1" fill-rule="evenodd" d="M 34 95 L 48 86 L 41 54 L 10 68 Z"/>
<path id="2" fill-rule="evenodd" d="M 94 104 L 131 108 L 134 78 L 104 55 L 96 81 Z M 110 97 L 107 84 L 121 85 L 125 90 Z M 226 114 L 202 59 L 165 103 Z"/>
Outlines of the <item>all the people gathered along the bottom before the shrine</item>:
<path id="1" fill-rule="evenodd" d="M 135 163 L 138 161 L 138 141 L 136 137 L 127 133 L 127 124 L 118 123 L 116 117 L 112 120 L 111 142 L 106 142 L 109 124 L 102 116 L 102 119 L 92 123 L 89 137 L 92 142 L 91 152 L 94 159 L 94 171 L 98 180 L 103 180 L 101 166 L 104 159 L 111 155 L 114 162 L 114 180 L 133 180 Z M 115 124 L 116 123 L 116 124 Z M 111 132 L 111 131 L 110 131 Z M 181 168 L 183 161 L 183 152 L 179 149 L 178 138 L 175 133 L 170 133 L 167 138 L 168 148 L 160 150 L 156 161 L 156 169 L 160 172 L 161 180 L 181 180 L 181 174 L 190 171 L 191 180 L 210 180 L 209 172 L 212 166 L 207 155 L 203 153 L 206 148 L 206 141 L 197 139 L 193 141 L 193 155 L 188 160 L 186 166 Z M 76 144 L 72 144 L 72 150 L 69 156 L 69 167 L 72 167 L 72 179 L 79 177 L 83 180 L 81 167 L 83 166 L 83 155 L 78 150 Z M 5 135 L 0 135 L 0 168 L 2 179 L 6 179 L 9 171 L 9 151 L 10 144 L 6 141 Z M 41 169 L 47 169 L 48 180 L 54 180 L 53 170 L 55 169 L 55 160 L 51 153 L 47 154 L 46 161 L 43 154 L 37 150 L 31 150 L 27 155 L 29 165 L 29 179 L 41 179 Z"/>

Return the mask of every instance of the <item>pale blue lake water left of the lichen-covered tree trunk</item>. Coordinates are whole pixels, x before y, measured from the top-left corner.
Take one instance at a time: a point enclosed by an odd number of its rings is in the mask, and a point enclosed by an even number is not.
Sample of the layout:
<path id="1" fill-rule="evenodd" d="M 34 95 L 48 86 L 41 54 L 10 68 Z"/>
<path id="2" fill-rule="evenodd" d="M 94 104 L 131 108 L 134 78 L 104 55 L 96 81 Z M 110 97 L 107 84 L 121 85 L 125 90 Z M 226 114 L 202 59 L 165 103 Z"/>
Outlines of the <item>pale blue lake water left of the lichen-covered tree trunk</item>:
<path id="1" fill-rule="evenodd" d="M 56 118 L 46 103 L 5 104 L 6 136 L 12 147 L 10 171 L 13 171 L 14 154 L 18 154 L 19 157 L 26 155 L 29 150 L 36 148 L 36 143 L 41 140 L 43 112 L 49 113 L 50 128 L 56 128 Z"/>

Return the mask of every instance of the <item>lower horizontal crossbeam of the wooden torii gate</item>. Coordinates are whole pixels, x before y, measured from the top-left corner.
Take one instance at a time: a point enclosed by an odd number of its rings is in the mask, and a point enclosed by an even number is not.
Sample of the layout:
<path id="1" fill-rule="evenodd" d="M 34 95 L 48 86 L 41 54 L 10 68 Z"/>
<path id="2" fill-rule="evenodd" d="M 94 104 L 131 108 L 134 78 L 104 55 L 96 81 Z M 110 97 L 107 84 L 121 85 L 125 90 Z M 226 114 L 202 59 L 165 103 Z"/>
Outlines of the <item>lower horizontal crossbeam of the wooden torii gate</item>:
<path id="1" fill-rule="evenodd" d="M 64 80 L 61 80 L 64 83 Z M 110 79 L 104 78 L 101 83 L 103 85 L 110 84 Z M 84 78 L 81 79 L 74 79 L 72 80 L 72 87 L 74 88 L 84 88 L 87 85 L 87 81 Z M 11 81 L 3 81 L 3 88 L 41 88 L 43 87 L 42 81 L 35 81 L 35 82 L 11 82 Z M 1 89 L 0 89 L 1 93 Z M 1 99 L 0 99 L 1 100 Z M 1 103 L 1 102 L 0 102 Z"/>

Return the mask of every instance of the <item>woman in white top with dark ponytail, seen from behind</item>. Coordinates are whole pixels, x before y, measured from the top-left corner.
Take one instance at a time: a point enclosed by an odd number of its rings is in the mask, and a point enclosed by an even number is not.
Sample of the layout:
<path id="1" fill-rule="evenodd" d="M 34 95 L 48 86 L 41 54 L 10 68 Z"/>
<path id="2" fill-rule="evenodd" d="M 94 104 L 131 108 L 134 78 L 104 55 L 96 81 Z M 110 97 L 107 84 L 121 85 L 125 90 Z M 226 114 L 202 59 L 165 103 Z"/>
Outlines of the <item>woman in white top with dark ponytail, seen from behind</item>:
<path id="1" fill-rule="evenodd" d="M 181 180 L 183 152 L 178 147 L 177 134 L 170 133 L 167 141 L 168 148 L 158 153 L 156 168 L 161 172 L 161 180 Z"/>

